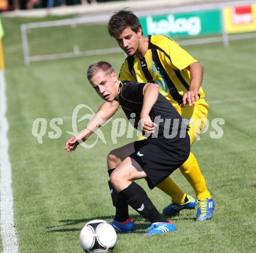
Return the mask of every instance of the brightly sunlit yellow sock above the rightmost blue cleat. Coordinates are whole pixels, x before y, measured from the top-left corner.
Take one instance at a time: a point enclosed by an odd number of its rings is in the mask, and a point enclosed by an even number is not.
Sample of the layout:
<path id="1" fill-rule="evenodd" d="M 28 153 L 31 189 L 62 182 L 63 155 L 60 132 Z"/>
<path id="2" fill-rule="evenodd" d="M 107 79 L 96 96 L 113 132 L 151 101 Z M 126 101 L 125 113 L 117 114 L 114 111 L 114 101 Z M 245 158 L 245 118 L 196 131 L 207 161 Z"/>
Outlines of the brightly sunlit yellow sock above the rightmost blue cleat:
<path id="1" fill-rule="evenodd" d="M 180 171 L 194 188 L 197 199 L 211 198 L 211 194 L 207 189 L 204 176 L 202 176 L 197 159 L 191 152 L 187 161 L 180 166 Z"/>

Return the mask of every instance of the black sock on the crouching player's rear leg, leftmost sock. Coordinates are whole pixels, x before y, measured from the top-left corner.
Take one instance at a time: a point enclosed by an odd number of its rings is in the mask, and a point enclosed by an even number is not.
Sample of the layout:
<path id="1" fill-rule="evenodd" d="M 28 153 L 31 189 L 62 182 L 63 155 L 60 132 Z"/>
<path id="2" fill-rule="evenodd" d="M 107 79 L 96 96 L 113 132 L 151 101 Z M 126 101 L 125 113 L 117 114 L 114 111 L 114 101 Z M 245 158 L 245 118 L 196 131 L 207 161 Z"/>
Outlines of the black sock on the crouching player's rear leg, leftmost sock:
<path id="1" fill-rule="evenodd" d="M 109 177 L 111 176 L 111 173 L 114 170 L 115 169 L 108 170 Z M 113 188 L 110 181 L 108 181 L 108 185 L 109 185 L 109 190 L 111 192 L 113 206 L 115 206 L 115 208 L 116 208 L 115 220 L 118 222 L 125 222 L 127 219 L 129 219 L 128 204 L 122 198 L 122 195 L 120 195 L 115 190 L 115 188 Z"/>

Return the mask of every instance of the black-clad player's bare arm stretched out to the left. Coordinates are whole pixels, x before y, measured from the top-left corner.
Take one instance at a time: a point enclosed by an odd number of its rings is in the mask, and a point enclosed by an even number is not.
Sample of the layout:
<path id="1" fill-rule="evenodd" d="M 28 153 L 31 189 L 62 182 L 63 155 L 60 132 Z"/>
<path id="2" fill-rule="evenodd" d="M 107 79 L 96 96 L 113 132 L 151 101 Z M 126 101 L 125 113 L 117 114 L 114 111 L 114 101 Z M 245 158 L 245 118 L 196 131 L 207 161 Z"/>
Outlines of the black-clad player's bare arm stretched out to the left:
<path id="1" fill-rule="evenodd" d="M 65 149 L 66 151 L 74 151 L 79 143 L 86 141 L 94 131 L 102 126 L 108 119 L 110 119 L 119 108 L 118 101 L 104 102 L 93 119 L 87 124 L 86 128 L 76 136 L 67 140 Z"/>

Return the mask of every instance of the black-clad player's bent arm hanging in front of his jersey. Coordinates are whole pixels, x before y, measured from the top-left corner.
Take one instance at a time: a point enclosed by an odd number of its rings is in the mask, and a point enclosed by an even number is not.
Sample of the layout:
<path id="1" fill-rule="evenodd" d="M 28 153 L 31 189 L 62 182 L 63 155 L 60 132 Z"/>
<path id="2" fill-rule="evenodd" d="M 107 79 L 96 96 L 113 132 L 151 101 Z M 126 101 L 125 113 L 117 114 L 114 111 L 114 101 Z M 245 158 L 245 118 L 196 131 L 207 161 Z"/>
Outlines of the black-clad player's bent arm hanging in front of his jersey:
<path id="1" fill-rule="evenodd" d="M 157 98 L 159 95 L 159 86 L 158 84 L 148 83 L 144 87 L 144 98 L 143 98 L 143 106 L 140 113 L 140 122 L 141 127 L 145 133 L 154 133 L 154 127 L 157 126 L 154 122 L 152 122 L 149 114 L 154 106 L 155 102 L 157 102 Z"/>

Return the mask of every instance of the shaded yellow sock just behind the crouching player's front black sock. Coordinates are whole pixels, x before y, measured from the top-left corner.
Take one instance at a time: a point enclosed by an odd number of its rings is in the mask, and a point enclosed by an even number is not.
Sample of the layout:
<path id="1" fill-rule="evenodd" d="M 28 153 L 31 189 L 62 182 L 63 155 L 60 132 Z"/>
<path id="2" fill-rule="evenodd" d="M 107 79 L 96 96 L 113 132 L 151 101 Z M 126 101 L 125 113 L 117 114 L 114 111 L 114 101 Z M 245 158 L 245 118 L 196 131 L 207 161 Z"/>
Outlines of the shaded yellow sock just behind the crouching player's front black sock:
<path id="1" fill-rule="evenodd" d="M 172 201 L 178 205 L 184 204 L 184 199 L 186 198 L 186 193 L 183 193 L 182 190 L 174 183 L 170 177 L 167 177 L 157 187 L 162 190 L 164 193 L 168 194 Z"/>

